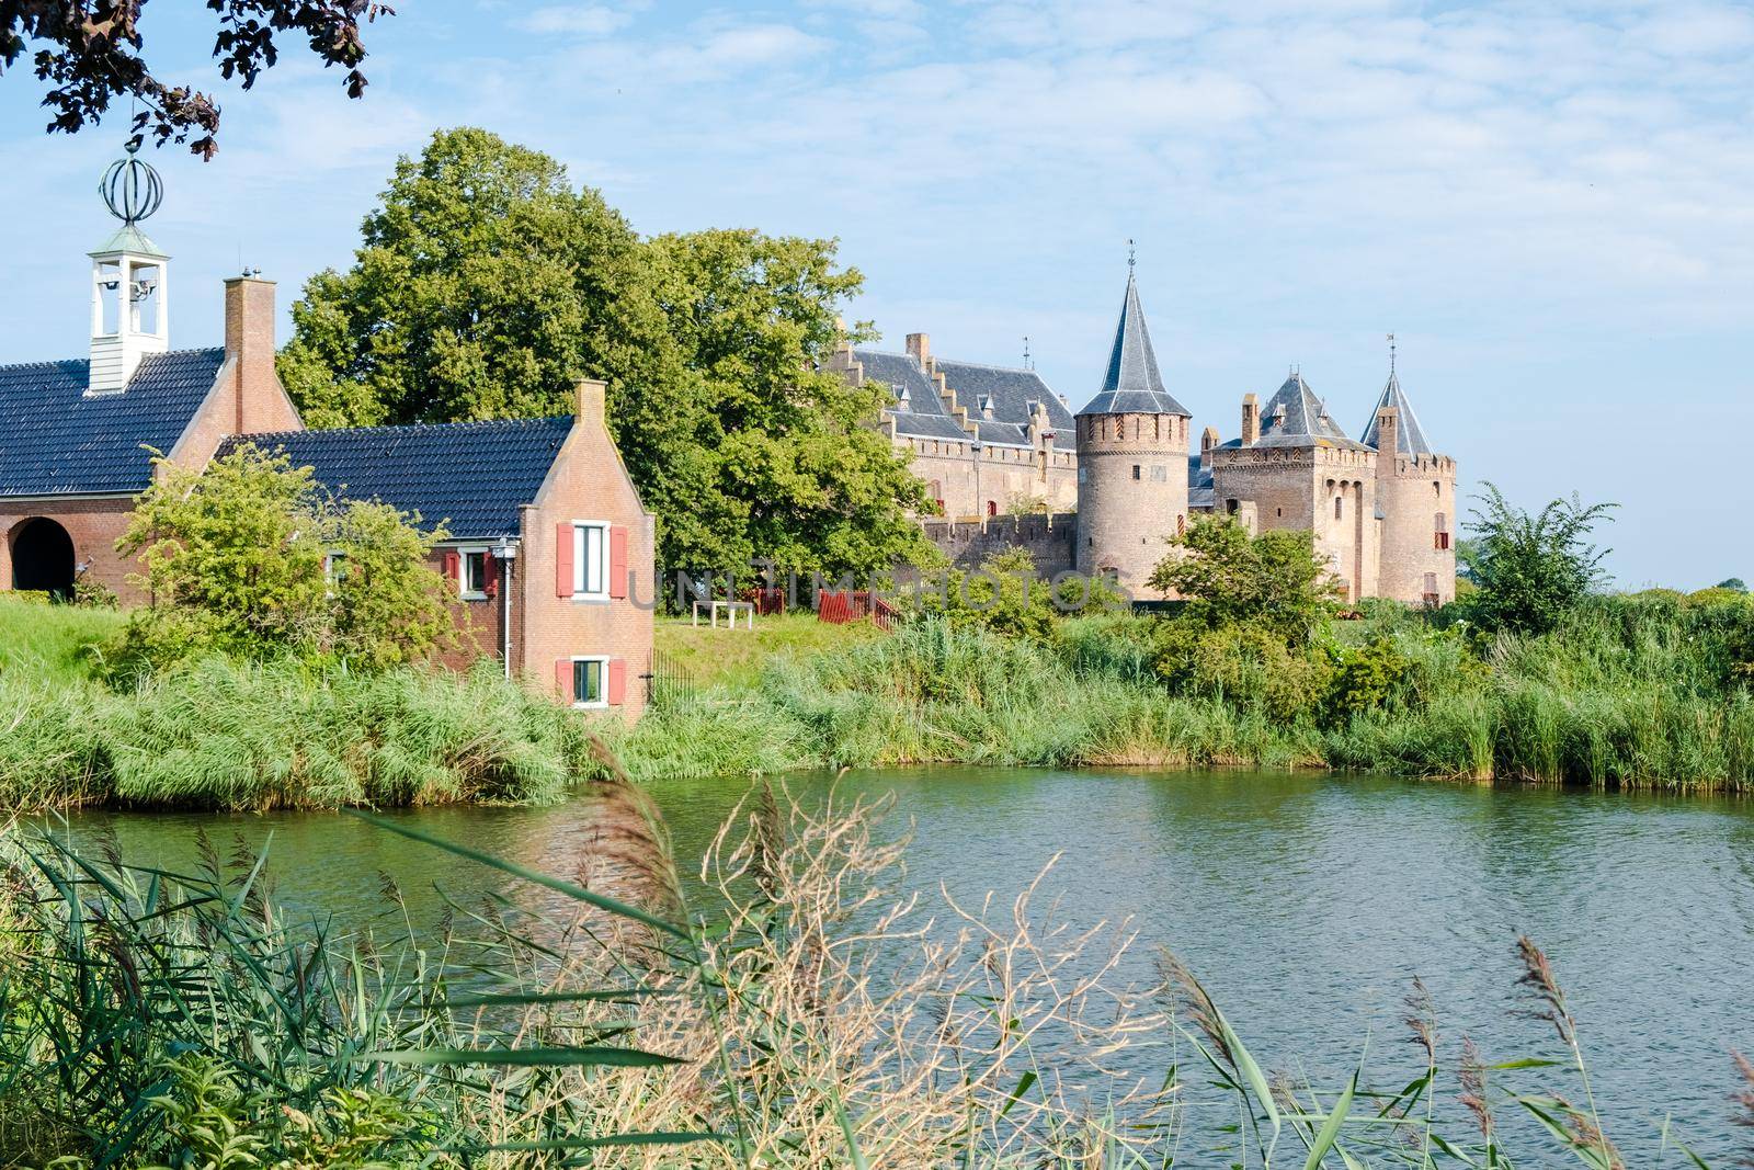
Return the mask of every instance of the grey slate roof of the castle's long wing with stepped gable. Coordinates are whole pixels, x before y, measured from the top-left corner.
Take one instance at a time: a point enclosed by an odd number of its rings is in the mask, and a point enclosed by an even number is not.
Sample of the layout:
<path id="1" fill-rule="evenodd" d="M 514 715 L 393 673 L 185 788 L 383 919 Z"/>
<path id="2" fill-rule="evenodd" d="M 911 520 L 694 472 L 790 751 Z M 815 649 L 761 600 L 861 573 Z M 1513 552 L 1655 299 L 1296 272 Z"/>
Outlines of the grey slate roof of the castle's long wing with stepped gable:
<path id="1" fill-rule="evenodd" d="M 888 407 L 888 414 L 895 417 L 898 435 L 963 442 L 970 439 L 938 396 L 937 382 L 912 354 L 854 349 L 852 358 L 865 368 L 868 381 L 888 384 L 895 395 L 895 405 Z M 1047 417 L 1054 426 L 1054 446 L 1066 451 L 1075 446 L 1072 414 L 1035 370 L 944 358 L 935 365 L 944 374 L 945 384 L 956 391 L 958 402 L 968 407 L 968 423 L 980 442 L 1028 447 L 1030 403 L 1040 402 L 1047 407 Z M 991 419 L 980 417 L 982 398 L 993 402 Z"/>

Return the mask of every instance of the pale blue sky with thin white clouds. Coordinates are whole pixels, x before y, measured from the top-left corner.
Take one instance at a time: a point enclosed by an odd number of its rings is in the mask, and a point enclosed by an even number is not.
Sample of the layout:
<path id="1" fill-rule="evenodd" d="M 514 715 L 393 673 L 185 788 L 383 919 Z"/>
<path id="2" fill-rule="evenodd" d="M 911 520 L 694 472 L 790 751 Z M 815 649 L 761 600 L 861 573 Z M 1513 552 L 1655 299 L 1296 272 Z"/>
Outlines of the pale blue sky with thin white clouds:
<path id="1" fill-rule="evenodd" d="M 884 346 L 1096 389 L 1138 240 L 1165 381 L 1224 437 L 1291 363 L 1363 430 L 1400 337 L 1426 432 L 1522 503 L 1617 500 L 1626 586 L 1754 579 L 1754 9 L 1745 4 L 405 0 L 340 95 L 288 42 L 217 82 L 196 5 L 149 56 L 225 105 L 167 149 L 174 344 L 219 279 L 344 265 L 396 154 L 470 123 L 561 158 L 642 232 L 838 237 Z M 44 137 L 0 79 L 0 361 L 84 351 L 82 253 L 125 119 Z"/>

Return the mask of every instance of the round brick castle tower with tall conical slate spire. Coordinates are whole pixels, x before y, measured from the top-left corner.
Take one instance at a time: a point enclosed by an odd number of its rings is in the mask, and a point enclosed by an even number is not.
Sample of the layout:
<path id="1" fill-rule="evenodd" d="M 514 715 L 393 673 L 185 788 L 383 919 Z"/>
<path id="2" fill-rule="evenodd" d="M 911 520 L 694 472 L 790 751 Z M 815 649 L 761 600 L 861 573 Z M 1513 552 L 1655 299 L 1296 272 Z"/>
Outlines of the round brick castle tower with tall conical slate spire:
<path id="1" fill-rule="evenodd" d="M 1133 596 L 1187 524 L 1187 424 L 1163 388 L 1131 268 L 1102 389 L 1077 416 L 1082 574 L 1114 572 Z"/>

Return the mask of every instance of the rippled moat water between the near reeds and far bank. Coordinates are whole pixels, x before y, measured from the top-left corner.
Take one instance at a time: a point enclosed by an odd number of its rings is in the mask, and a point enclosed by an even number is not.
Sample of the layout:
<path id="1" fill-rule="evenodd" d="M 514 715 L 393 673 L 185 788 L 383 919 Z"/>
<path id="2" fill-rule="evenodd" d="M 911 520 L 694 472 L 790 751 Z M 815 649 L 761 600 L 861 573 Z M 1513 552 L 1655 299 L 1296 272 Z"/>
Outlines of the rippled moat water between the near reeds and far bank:
<path id="1" fill-rule="evenodd" d="M 1337 779 L 1326 775 L 1100 774 L 933 768 L 849 774 L 851 793 L 895 793 L 891 830 L 914 826 L 909 884 L 977 900 L 1021 889 L 1056 854 L 1045 896 L 1093 923 L 1131 916 L 1210 988 L 1268 1068 L 1337 1086 L 1361 1049 L 1403 1082 L 1401 998 L 1414 975 L 1437 1000 L 1445 1056 L 1463 1031 L 1494 1059 L 1559 1056 L 1526 998 L 1519 933 L 1552 958 L 1580 1023 L 1610 1135 L 1656 1149 L 1673 1112 L 1696 1149 L 1738 1149 L 1729 1051 L 1754 1052 L 1754 805 Z M 795 791 L 826 793 L 824 777 Z M 654 789 L 679 851 L 698 858 L 745 781 Z M 589 838 L 586 805 L 398 814 L 475 847 L 570 874 Z M 272 830 L 279 902 L 358 923 L 382 914 L 381 877 L 416 921 L 437 889 L 516 893 L 491 870 L 342 816 L 84 814 L 139 863 L 186 863 L 193 830 L 221 849 Z M 1145 981 L 1149 947 L 1126 972 Z M 1405 1072 L 1401 1077 L 1400 1074 Z M 1745 1135 L 1745 1131 L 1743 1131 Z M 1635 1158 L 1635 1163 L 1647 1158 Z"/>

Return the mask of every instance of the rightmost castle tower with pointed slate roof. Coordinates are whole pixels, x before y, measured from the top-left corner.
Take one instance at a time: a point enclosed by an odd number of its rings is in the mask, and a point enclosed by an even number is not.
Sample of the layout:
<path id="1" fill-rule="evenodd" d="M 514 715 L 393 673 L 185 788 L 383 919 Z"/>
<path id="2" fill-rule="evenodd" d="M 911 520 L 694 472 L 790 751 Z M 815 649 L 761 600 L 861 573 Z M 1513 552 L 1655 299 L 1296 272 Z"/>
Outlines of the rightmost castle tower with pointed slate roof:
<path id="1" fill-rule="evenodd" d="M 1431 449 L 1393 363 L 1365 446 L 1377 451 L 1377 593 L 1408 605 L 1456 600 L 1456 460 Z"/>

